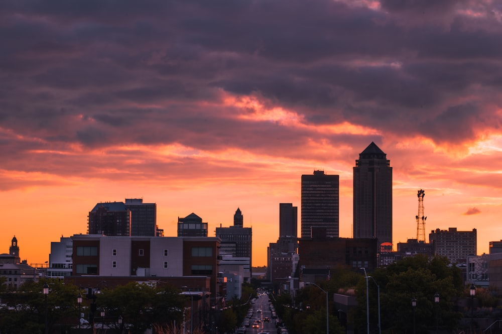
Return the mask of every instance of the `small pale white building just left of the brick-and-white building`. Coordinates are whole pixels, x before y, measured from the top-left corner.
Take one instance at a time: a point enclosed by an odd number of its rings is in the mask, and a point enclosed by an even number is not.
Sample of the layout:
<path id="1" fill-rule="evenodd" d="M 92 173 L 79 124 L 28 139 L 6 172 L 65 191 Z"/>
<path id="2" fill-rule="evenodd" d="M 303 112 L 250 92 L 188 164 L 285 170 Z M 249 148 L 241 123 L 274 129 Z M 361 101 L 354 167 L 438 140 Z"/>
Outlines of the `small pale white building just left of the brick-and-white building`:
<path id="1" fill-rule="evenodd" d="M 51 242 L 47 278 L 63 279 L 71 276 L 73 267 L 72 254 L 73 241 L 71 238 L 61 237 L 59 242 Z"/>

